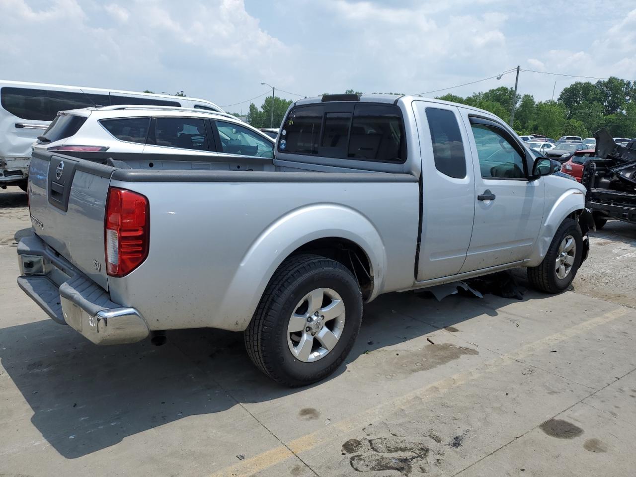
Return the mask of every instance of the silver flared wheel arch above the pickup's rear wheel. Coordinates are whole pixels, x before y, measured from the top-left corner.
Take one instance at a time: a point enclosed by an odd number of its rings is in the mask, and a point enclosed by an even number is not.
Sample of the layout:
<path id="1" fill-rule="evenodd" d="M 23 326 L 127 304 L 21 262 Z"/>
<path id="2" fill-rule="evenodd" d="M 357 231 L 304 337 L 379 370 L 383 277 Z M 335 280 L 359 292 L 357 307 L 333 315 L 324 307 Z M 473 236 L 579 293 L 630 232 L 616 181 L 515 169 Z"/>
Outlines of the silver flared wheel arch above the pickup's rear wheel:
<path id="1" fill-rule="evenodd" d="M 273 273 L 290 254 L 312 240 L 338 237 L 359 245 L 373 277 L 370 300 L 382 289 L 387 258 L 380 234 L 358 211 L 337 204 L 313 204 L 288 212 L 252 242 L 215 316 L 219 328 L 243 331 Z"/>

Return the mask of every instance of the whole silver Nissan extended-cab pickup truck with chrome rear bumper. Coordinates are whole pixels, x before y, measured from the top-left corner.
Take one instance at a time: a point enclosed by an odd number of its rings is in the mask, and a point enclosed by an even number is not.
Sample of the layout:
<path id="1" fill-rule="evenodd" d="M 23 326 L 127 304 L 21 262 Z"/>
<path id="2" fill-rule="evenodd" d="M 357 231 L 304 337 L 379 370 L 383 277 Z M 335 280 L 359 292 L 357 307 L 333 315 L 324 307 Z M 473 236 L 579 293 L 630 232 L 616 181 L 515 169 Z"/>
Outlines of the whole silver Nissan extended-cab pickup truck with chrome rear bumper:
<path id="1" fill-rule="evenodd" d="M 20 287 L 97 344 L 244 331 L 252 361 L 298 386 L 342 363 L 379 294 L 520 266 L 558 293 L 588 254 L 583 186 L 480 109 L 325 95 L 289 107 L 273 159 L 211 143 L 207 167 L 170 148 L 36 150 Z"/>

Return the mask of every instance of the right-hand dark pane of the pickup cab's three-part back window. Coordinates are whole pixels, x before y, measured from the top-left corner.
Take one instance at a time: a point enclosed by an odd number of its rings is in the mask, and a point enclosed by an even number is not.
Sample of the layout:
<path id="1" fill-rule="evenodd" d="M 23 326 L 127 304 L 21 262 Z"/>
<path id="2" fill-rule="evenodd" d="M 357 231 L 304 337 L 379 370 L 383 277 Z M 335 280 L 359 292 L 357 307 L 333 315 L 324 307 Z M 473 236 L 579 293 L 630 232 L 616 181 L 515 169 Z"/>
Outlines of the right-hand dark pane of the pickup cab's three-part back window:
<path id="1" fill-rule="evenodd" d="M 402 118 L 396 106 L 356 105 L 347 158 L 404 162 L 405 149 Z"/>

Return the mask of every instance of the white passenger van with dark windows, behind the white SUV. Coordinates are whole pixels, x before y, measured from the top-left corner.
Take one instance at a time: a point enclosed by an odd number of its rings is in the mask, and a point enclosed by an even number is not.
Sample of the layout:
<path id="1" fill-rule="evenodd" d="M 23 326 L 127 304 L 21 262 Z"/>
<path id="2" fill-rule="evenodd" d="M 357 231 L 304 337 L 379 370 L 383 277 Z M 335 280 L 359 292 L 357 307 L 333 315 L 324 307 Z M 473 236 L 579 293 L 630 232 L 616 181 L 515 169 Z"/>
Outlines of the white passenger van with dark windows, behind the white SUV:
<path id="1" fill-rule="evenodd" d="M 192 107 L 225 113 L 205 99 L 0 80 L 0 188 L 13 184 L 26 190 L 31 144 L 58 111 L 116 104 Z"/>

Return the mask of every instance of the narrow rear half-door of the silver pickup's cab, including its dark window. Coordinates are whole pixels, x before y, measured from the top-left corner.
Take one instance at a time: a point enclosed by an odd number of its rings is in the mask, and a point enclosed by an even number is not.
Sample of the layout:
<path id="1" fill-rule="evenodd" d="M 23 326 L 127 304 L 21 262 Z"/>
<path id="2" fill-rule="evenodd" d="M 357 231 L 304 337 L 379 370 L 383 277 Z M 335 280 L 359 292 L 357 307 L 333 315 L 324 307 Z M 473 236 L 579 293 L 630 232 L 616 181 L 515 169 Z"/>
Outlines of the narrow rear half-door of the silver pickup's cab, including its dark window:
<path id="1" fill-rule="evenodd" d="M 473 162 L 459 109 L 414 101 L 422 155 L 422 235 L 417 280 L 458 273 L 471 240 Z"/>

